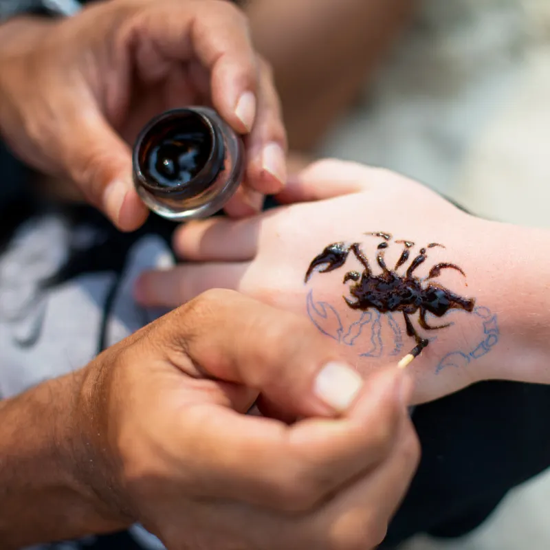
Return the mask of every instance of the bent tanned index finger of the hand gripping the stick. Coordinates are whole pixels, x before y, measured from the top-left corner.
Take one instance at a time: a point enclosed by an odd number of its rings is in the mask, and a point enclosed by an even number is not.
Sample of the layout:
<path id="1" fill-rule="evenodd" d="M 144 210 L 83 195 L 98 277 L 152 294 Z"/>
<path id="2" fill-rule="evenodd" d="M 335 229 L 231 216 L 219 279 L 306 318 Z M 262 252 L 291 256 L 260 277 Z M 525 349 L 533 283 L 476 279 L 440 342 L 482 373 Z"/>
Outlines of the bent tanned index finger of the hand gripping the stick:
<path id="1" fill-rule="evenodd" d="M 395 445 L 406 410 L 395 369 L 376 373 L 362 398 L 339 419 L 293 426 L 228 408 L 184 412 L 177 445 L 201 450 L 184 475 L 208 472 L 201 494 L 284 511 L 307 511 L 376 467 Z M 205 452 L 206 451 L 206 452 Z"/>

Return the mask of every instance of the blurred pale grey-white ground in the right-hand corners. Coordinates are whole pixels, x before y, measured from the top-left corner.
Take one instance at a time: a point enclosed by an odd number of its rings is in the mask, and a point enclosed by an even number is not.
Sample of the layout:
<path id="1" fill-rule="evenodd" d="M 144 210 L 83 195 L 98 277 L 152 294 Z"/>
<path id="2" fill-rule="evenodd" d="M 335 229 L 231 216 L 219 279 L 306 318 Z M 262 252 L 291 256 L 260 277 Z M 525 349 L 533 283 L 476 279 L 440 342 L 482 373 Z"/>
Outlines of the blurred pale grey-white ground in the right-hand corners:
<path id="1" fill-rule="evenodd" d="M 550 1 L 427 0 L 316 151 L 393 168 L 473 212 L 548 227 Z M 402 550 L 547 550 L 550 475 L 456 542 Z"/>

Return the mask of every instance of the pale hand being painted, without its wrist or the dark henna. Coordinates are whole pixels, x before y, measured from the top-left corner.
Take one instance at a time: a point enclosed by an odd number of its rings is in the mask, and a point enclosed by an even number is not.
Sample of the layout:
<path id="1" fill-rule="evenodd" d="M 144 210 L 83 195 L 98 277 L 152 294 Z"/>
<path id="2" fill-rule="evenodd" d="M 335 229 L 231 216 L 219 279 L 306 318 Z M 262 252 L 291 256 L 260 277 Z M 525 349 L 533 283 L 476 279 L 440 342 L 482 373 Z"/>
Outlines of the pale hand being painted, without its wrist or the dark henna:
<path id="1" fill-rule="evenodd" d="M 388 232 L 392 239 L 384 256 L 392 270 L 406 250 L 396 241 L 415 243 L 408 260 L 397 269 L 404 276 L 421 248 L 441 243 L 445 248 L 427 248 L 428 258 L 412 275 L 423 279 L 438 263 L 456 263 L 466 276 L 447 268 L 421 285 L 441 283 L 463 298 L 475 298 L 476 309 L 472 313 L 451 309 L 442 318 L 428 314 L 428 325 L 453 323 L 434 331 L 421 327 L 419 310 L 409 315 L 421 338 L 436 338 L 409 367 L 417 381 L 414 400 L 441 397 L 485 377 L 483 361 L 478 358 L 498 339 L 492 312 L 485 307 L 493 307 L 485 301 L 491 287 L 491 264 L 480 256 L 481 250 L 493 248 L 489 239 L 495 235 L 489 222 L 465 214 L 405 177 L 333 160 L 311 165 L 297 181 L 289 182 L 280 199 L 305 202 L 241 221 L 218 218 L 181 226 L 174 248 L 190 263 L 143 274 L 136 287 L 137 299 L 146 305 L 170 307 L 211 287 L 237 289 L 306 314 L 322 333 L 342 344 L 352 364 L 367 372 L 396 364 L 415 347 L 415 339 L 406 333 L 402 311 L 380 314 L 373 307 L 360 311 L 345 303 L 343 296 L 352 302 L 356 298 L 351 295 L 353 281 L 342 284 L 344 274 L 364 272 L 353 252 L 332 272 L 320 273 L 328 260 L 319 263 L 305 283 L 308 266 L 331 243 L 360 243 L 376 276 L 382 271 L 377 265 L 377 247 L 386 241 L 366 233 Z M 398 292 L 390 288 L 385 296 L 392 298 Z M 487 338 L 487 348 L 478 349 Z"/>

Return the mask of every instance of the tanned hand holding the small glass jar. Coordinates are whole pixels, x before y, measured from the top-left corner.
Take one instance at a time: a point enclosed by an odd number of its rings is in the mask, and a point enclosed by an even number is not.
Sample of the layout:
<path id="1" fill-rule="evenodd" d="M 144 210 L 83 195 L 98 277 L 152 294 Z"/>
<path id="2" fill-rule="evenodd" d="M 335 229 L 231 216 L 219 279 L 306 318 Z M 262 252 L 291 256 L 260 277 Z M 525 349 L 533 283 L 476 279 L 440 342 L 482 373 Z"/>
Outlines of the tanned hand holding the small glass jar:
<path id="1" fill-rule="evenodd" d="M 192 104 L 212 104 L 249 134 L 246 185 L 227 211 L 257 211 L 259 193 L 285 181 L 285 130 L 270 69 L 232 3 L 113 0 L 61 21 L 0 25 L 1 135 L 122 230 L 147 214 L 132 184 L 137 133 L 153 115 Z"/>

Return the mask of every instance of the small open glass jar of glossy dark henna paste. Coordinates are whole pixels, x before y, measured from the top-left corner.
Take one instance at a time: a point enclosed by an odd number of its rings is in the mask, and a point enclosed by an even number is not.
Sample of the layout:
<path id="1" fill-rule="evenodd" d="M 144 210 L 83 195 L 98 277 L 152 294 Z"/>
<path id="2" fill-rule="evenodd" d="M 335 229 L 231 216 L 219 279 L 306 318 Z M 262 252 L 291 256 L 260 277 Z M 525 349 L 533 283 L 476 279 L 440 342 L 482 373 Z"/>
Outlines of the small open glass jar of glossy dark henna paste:
<path id="1" fill-rule="evenodd" d="M 208 107 L 153 118 L 133 148 L 135 188 L 148 208 L 185 221 L 218 212 L 244 175 L 241 137 Z"/>

